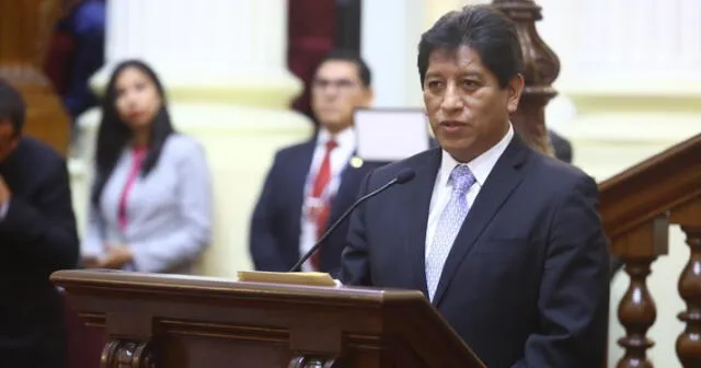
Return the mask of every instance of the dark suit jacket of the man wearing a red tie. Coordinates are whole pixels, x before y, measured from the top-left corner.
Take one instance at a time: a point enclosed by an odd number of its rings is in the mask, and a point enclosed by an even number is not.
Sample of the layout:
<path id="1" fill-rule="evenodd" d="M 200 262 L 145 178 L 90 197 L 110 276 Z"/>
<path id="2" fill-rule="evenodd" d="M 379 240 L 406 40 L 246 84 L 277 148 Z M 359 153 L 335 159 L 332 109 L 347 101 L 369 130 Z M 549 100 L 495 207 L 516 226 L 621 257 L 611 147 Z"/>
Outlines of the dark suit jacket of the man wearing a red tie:
<path id="1" fill-rule="evenodd" d="M 287 272 L 301 256 L 299 240 L 304 184 L 315 145 L 314 137 L 275 154 L 251 220 L 249 246 L 255 269 Z M 336 195 L 332 198 L 329 226 L 353 205 L 363 177 L 382 164 L 365 162 L 360 168 L 346 165 L 341 173 Z M 326 239 L 320 250 L 322 272 L 338 275 L 347 232 L 346 220 Z"/>

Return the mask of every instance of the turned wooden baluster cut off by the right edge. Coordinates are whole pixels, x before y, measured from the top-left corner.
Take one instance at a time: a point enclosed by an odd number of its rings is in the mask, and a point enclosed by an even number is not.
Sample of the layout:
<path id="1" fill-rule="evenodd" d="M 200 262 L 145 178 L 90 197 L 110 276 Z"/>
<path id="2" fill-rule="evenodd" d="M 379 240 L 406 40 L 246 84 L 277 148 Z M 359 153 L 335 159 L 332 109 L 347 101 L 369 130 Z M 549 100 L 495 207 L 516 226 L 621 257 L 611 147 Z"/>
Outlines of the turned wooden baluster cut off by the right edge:
<path id="1" fill-rule="evenodd" d="M 685 368 L 701 367 L 701 196 L 675 208 L 670 221 L 681 226 L 691 251 L 679 276 L 679 296 L 687 303 L 679 320 L 687 326 L 677 338 L 677 356 Z"/>

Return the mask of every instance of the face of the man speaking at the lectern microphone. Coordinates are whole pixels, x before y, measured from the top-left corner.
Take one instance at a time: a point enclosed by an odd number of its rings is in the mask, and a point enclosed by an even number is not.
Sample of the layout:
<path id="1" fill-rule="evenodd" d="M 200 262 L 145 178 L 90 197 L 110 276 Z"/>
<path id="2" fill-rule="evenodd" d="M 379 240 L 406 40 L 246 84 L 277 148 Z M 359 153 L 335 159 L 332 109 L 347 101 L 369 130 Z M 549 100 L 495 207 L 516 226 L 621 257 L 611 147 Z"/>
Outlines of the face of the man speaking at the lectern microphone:
<path id="1" fill-rule="evenodd" d="M 440 147 L 469 162 L 496 145 L 508 130 L 524 88 L 520 76 L 501 88 L 478 51 L 461 46 L 437 49 L 428 58 L 424 104 Z"/>

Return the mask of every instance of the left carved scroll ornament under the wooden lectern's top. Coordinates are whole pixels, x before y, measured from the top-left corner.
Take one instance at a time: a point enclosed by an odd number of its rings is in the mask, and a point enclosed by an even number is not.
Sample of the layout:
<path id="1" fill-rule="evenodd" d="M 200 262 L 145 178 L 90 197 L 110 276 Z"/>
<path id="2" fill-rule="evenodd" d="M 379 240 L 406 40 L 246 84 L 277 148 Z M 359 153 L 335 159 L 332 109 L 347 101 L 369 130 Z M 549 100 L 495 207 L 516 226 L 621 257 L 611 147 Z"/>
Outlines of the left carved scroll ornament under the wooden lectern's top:
<path id="1" fill-rule="evenodd" d="M 154 368 L 148 342 L 114 340 L 107 343 L 100 358 L 101 368 Z"/>

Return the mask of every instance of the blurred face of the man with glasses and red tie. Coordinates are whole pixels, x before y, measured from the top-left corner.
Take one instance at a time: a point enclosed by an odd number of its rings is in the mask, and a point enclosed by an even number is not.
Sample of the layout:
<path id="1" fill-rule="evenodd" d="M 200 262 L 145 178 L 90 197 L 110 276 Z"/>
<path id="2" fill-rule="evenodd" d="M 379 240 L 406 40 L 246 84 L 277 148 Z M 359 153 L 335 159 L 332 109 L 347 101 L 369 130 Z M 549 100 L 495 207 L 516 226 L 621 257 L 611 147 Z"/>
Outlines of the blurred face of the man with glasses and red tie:
<path id="1" fill-rule="evenodd" d="M 353 125 L 353 112 L 369 107 L 372 92 L 363 84 L 358 67 L 350 61 L 329 60 L 317 70 L 311 85 L 311 107 L 331 133 Z"/>

